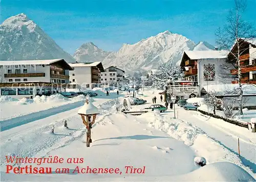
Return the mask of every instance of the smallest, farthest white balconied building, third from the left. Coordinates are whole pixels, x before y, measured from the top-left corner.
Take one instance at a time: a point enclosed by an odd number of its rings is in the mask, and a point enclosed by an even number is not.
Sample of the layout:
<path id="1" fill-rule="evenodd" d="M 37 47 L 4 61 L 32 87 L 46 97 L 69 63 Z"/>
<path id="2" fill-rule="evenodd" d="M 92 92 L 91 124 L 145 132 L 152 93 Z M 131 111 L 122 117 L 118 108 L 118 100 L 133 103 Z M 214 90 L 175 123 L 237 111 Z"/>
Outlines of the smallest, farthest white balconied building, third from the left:
<path id="1" fill-rule="evenodd" d="M 124 81 L 124 71 L 115 66 L 111 66 L 104 69 L 104 72 L 101 73 L 100 77 L 102 85 L 115 87 L 122 86 Z"/>

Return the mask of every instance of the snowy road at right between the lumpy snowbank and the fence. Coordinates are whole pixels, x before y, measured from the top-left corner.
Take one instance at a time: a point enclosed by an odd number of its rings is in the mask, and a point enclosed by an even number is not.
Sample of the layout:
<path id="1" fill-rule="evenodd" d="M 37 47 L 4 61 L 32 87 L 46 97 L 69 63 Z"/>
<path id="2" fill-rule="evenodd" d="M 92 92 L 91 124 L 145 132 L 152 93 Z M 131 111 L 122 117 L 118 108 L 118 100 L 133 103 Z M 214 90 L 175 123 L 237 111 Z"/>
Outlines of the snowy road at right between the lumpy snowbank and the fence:
<path id="1" fill-rule="evenodd" d="M 233 153 L 237 155 L 239 154 L 238 138 L 234 137 L 232 134 L 221 131 L 215 126 L 208 124 L 206 118 L 203 119 L 197 116 L 196 111 L 185 111 L 179 107 L 177 107 L 177 111 L 179 113 L 179 119 L 187 121 L 194 126 L 201 128 L 209 137 L 219 142 Z M 251 170 L 256 173 L 256 145 L 240 140 L 240 155 L 243 164 L 245 166 L 249 166 Z"/>

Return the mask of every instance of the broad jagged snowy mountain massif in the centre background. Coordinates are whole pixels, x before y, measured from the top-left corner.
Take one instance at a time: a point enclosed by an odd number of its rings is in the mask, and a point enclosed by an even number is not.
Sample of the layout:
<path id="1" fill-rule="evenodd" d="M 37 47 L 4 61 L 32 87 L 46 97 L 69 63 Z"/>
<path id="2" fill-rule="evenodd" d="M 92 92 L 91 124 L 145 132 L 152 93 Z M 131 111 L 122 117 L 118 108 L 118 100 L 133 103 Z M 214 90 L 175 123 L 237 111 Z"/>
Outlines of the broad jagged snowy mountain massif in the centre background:
<path id="1" fill-rule="evenodd" d="M 104 67 L 116 65 L 125 71 L 150 70 L 159 62 L 181 59 L 184 50 L 193 50 L 195 42 L 169 31 L 143 39 L 135 44 L 123 44 L 116 52 L 111 53 L 102 63 Z"/>

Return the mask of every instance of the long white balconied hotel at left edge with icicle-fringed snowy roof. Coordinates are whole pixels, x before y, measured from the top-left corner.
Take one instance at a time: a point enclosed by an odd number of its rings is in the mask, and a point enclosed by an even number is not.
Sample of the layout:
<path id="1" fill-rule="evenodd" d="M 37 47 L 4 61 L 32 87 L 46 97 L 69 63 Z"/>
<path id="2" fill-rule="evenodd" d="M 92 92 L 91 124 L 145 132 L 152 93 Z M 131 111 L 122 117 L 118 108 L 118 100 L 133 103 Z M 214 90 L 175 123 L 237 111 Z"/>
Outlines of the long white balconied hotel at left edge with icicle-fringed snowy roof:
<path id="1" fill-rule="evenodd" d="M 15 98 L 61 92 L 73 70 L 63 59 L 0 61 L 1 95 Z"/>

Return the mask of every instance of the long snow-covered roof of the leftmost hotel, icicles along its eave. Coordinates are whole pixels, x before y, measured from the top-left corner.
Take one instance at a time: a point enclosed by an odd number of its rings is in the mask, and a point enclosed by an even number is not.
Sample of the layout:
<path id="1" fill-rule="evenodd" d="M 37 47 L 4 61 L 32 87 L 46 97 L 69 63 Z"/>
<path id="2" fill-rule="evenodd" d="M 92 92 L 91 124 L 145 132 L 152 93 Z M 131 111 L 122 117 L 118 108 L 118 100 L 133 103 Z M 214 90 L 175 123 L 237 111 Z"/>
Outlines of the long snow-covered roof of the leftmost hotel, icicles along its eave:
<path id="1" fill-rule="evenodd" d="M 54 59 L 54 60 L 22 60 L 22 61 L 0 61 L 2 66 L 10 65 L 50 65 L 56 62 L 61 62 L 65 69 L 73 70 L 72 67 L 64 59 Z"/>

